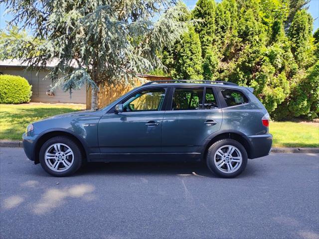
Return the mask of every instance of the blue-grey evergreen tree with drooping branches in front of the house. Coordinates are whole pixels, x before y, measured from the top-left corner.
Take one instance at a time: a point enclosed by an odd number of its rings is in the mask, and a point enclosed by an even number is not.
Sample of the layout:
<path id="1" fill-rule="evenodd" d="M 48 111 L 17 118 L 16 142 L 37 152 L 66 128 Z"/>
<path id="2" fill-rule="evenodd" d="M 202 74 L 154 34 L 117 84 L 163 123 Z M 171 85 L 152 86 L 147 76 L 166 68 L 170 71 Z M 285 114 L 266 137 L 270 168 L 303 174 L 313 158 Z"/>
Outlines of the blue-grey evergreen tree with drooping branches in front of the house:
<path id="1" fill-rule="evenodd" d="M 4 58 L 19 58 L 30 67 L 50 61 L 53 89 L 92 87 L 91 107 L 97 107 L 97 86 L 128 82 L 136 73 L 161 66 L 158 52 L 187 30 L 180 21 L 186 6 L 170 0 L 0 0 L 33 37 L 1 46 Z M 156 16 L 159 16 L 158 21 Z M 34 39 L 40 42 L 34 42 Z M 61 77 L 61 75 L 64 75 Z"/>

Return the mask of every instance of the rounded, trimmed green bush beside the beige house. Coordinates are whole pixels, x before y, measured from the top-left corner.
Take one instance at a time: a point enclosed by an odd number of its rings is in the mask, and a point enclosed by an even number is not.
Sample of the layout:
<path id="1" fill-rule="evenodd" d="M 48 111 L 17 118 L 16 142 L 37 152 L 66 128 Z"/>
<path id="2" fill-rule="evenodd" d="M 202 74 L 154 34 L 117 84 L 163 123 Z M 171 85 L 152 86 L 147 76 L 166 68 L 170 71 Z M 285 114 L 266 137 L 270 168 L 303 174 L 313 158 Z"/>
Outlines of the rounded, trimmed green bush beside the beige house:
<path id="1" fill-rule="evenodd" d="M 30 102 L 31 86 L 21 76 L 0 75 L 0 104 Z"/>

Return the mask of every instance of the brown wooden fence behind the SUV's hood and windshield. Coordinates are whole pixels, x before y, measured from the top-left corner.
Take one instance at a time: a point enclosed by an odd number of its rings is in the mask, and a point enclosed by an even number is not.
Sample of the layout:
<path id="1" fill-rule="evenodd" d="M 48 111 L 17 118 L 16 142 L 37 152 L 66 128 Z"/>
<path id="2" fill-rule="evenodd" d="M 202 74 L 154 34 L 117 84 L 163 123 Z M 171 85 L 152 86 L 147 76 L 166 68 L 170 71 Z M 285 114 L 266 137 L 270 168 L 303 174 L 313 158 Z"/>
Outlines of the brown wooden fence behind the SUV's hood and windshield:
<path id="1" fill-rule="evenodd" d="M 103 108 L 113 101 L 117 100 L 119 97 L 123 96 L 125 93 L 133 90 L 136 87 L 139 87 L 145 84 L 148 81 L 157 81 L 157 80 L 170 80 L 169 77 L 162 76 L 151 76 L 151 75 L 143 75 L 133 81 L 131 85 L 108 85 L 101 84 L 99 86 L 98 92 L 98 108 Z M 91 97 L 92 92 L 91 88 L 88 89 L 86 93 L 86 109 L 91 109 Z"/>

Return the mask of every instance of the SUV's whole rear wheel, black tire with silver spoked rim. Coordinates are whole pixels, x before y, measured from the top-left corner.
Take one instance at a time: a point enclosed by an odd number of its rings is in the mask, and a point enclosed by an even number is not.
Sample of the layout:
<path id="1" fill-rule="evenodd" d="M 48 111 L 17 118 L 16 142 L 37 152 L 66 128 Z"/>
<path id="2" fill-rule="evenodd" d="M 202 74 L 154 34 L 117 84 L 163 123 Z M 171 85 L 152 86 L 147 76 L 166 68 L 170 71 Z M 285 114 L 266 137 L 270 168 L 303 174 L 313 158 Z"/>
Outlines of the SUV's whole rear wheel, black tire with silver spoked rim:
<path id="1" fill-rule="evenodd" d="M 247 158 L 247 152 L 241 143 L 234 139 L 222 139 L 209 147 L 206 163 L 214 174 L 233 178 L 244 171 Z"/>

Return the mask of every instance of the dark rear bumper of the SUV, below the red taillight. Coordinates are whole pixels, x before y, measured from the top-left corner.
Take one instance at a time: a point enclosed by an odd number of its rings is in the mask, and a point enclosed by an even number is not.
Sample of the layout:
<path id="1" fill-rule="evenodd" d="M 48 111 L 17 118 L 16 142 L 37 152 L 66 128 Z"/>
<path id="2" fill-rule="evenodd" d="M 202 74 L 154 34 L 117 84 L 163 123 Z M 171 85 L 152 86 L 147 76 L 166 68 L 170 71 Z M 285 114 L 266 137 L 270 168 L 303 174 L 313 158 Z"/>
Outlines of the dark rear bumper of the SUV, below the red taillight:
<path id="1" fill-rule="evenodd" d="M 249 158 L 259 158 L 267 156 L 270 152 L 271 145 L 273 143 L 273 135 L 260 134 L 247 136 L 247 140 L 251 146 Z"/>

